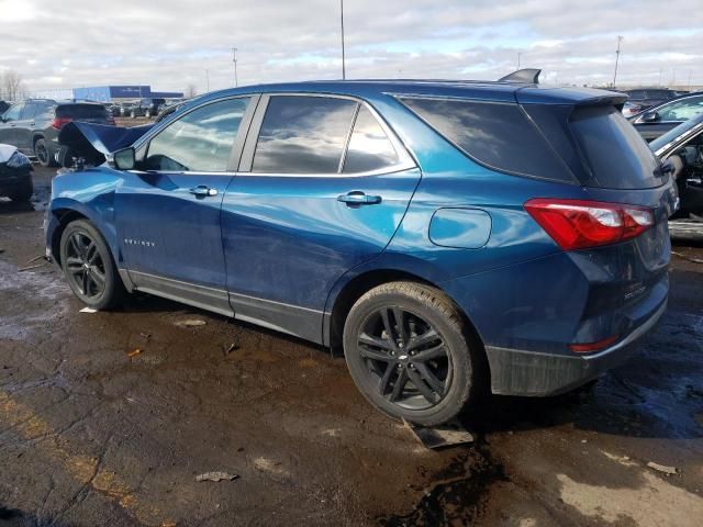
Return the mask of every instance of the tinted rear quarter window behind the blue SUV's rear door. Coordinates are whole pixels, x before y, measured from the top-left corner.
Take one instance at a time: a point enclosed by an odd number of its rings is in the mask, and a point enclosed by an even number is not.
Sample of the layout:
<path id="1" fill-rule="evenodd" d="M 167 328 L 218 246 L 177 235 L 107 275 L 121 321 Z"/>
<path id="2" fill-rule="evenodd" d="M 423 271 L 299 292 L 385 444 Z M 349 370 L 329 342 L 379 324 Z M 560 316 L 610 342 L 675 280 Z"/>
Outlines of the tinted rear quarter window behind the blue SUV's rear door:
<path id="1" fill-rule="evenodd" d="M 520 176 L 576 182 L 517 104 L 411 98 L 401 101 L 482 165 Z"/>

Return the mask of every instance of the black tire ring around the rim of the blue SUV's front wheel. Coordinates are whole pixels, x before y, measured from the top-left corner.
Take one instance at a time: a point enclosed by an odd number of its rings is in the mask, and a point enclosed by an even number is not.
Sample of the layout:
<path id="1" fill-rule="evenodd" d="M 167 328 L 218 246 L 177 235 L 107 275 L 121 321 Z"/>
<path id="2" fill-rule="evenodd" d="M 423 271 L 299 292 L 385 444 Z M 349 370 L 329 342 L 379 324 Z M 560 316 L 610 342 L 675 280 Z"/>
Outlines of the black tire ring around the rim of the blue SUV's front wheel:
<path id="1" fill-rule="evenodd" d="M 91 239 L 96 242 L 98 251 L 100 253 L 100 258 L 104 264 L 105 289 L 103 290 L 102 294 L 96 299 L 89 299 L 82 294 L 82 292 L 74 283 L 74 280 L 70 273 L 68 272 L 68 269 L 66 266 L 68 239 L 70 238 L 70 236 L 72 236 L 76 233 L 86 234 L 87 236 L 89 236 Z M 60 258 L 62 258 L 62 270 L 64 271 L 64 276 L 68 281 L 69 288 L 71 289 L 74 294 L 78 298 L 78 300 L 80 300 L 83 304 L 90 307 L 93 307 L 96 310 L 104 310 L 104 309 L 111 307 L 115 303 L 118 290 L 119 290 L 118 281 L 121 279 L 120 277 L 118 277 L 116 268 L 114 266 L 114 260 L 112 259 L 112 254 L 110 251 L 110 248 L 108 247 L 108 244 L 105 243 L 100 232 L 98 232 L 98 229 L 91 223 L 83 220 L 77 220 L 68 224 L 68 226 L 62 233 Z"/>

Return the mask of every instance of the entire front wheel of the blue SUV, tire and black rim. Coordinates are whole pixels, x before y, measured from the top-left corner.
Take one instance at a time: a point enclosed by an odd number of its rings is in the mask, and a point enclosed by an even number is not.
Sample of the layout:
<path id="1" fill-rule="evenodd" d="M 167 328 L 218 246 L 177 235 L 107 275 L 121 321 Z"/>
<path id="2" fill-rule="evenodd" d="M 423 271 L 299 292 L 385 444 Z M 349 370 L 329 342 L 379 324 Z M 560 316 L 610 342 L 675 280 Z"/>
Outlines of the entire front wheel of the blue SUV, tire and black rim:
<path id="1" fill-rule="evenodd" d="M 74 294 L 96 310 L 119 306 L 126 291 L 110 248 L 88 221 L 76 220 L 62 233 L 62 269 Z"/>

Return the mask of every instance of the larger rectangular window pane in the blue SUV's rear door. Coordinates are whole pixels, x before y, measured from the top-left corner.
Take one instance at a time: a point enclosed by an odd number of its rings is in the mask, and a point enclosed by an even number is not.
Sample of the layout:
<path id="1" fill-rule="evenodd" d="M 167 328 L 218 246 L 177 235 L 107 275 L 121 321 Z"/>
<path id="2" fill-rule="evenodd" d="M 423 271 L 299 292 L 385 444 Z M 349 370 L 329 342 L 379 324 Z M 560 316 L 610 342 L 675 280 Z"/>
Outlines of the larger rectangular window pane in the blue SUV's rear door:
<path id="1" fill-rule="evenodd" d="M 330 97 L 271 97 L 254 172 L 337 173 L 357 103 Z"/>

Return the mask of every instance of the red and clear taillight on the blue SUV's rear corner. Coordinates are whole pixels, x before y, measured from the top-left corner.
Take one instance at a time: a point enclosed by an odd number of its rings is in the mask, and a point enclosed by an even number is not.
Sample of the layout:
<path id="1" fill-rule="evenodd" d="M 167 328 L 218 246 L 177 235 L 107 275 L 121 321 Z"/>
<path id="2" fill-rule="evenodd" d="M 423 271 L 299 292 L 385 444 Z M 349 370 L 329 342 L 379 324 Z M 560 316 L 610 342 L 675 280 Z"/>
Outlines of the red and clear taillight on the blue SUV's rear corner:
<path id="1" fill-rule="evenodd" d="M 655 224 L 650 209 L 601 201 L 539 198 L 525 210 L 565 250 L 624 242 Z"/>

